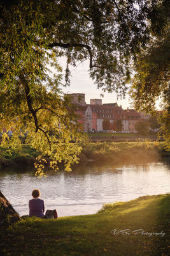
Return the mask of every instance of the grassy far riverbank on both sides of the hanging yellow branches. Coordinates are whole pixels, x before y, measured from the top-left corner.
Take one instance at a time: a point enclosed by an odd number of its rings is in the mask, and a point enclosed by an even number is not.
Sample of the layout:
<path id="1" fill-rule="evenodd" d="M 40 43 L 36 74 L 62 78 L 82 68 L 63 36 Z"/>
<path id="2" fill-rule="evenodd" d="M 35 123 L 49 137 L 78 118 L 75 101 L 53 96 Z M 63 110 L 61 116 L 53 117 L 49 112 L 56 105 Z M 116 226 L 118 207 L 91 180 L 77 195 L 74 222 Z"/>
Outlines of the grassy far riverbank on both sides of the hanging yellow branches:
<path id="1" fill-rule="evenodd" d="M 169 157 L 164 150 L 162 141 L 135 141 L 135 142 L 85 142 L 79 156 L 80 164 L 90 162 L 101 163 L 143 163 Z M 6 150 L 0 147 L 0 170 L 18 170 L 34 168 L 38 152 L 29 145 L 22 145 L 20 150 Z M 48 159 L 47 159 L 48 160 Z M 48 167 L 48 166 L 47 166 Z M 60 166 L 62 168 L 62 165 Z"/>

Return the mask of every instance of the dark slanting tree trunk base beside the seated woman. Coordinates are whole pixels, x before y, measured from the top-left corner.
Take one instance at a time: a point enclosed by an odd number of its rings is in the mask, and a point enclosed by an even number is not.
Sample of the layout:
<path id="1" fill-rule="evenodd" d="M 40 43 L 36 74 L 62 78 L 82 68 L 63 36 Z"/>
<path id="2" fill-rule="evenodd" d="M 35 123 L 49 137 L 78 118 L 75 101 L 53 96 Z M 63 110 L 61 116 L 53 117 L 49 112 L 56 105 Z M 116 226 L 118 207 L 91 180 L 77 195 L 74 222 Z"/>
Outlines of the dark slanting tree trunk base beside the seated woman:
<path id="1" fill-rule="evenodd" d="M 0 191 L 0 229 L 6 228 L 18 220 L 20 220 L 19 214 Z"/>

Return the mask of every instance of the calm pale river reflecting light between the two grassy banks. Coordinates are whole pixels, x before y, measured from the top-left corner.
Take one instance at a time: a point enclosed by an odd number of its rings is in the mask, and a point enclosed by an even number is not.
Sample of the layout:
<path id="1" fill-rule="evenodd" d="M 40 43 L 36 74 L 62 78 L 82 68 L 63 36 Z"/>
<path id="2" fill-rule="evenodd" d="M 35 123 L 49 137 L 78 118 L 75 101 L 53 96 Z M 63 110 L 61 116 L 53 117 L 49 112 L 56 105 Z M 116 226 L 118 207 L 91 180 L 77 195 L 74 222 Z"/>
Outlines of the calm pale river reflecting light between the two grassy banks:
<path id="1" fill-rule="evenodd" d="M 30 172 L 0 173 L 0 189 L 20 215 L 29 214 L 28 202 L 36 188 L 41 191 L 45 210 L 57 209 L 59 216 L 93 214 L 103 204 L 169 193 L 170 164 L 79 167 L 42 178 Z"/>

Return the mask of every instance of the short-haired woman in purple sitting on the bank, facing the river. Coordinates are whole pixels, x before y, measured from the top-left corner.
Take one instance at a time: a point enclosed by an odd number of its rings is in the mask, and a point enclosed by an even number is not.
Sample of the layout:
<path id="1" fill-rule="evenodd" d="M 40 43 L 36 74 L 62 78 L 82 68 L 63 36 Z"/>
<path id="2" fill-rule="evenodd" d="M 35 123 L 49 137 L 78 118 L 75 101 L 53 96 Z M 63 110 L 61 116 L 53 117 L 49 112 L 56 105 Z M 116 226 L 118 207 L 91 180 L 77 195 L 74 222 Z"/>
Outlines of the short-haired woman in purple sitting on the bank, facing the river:
<path id="1" fill-rule="evenodd" d="M 42 199 L 39 199 L 39 196 L 39 189 L 34 189 L 32 191 L 33 199 L 29 200 L 29 216 L 44 218 L 45 204 Z"/>

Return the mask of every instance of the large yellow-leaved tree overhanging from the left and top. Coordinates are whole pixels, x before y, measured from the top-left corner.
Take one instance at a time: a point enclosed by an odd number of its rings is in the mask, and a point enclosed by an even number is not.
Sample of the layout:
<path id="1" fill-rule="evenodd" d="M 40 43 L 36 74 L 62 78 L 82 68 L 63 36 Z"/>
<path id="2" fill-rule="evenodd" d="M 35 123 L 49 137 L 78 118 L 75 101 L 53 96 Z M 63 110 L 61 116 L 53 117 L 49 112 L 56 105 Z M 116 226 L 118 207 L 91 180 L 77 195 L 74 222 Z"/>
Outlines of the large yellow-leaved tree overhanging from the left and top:
<path id="1" fill-rule="evenodd" d="M 146 18 L 152 20 L 160 2 L 165 1 L 1 1 L 0 123 L 15 128 L 12 140 L 4 135 L 4 147 L 19 147 L 18 134 L 27 132 L 31 147 L 48 155 L 52 168 L 64 161 L 70 170 L 81 150 L 71 141 L 80 136 L 73 106 L 59 90 L 57 59 L 67 57 L 66 85 L 69 65 L 89 59 L 97 88 L 124 96 L 129 63 L 150 37 Z M 49 74 L 50 66 L 55 74 Z"/>

